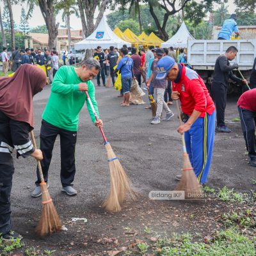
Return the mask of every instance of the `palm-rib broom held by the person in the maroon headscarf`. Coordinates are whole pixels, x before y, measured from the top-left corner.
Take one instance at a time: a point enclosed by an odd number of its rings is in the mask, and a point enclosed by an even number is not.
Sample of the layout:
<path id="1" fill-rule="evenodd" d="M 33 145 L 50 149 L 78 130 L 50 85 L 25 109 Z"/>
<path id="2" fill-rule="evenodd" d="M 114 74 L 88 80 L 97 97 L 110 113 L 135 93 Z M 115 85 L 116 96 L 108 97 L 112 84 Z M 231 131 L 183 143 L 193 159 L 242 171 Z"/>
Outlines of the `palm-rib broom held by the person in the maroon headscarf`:
<path id="1" fill-rule="evenodd" d="M 31 131 L 30 133 L 31 133 L 33 146 L 34 148 L 36 148 L 34 132 Z M 60 231 L 61 221 L 56 211 L 56 208 L 52 202 L 52 198 L 49 194 L 49 191 L 47 189 L 47 183 L 44 181 L 44 175 L 42 172 L 42 166 L 41 166 L 40 160 L 37 160 L 37 166 L 38 166 L 40 180 L 41 180 L 40 187 L 42 191 L 43 209 L 42 209 L 40 221 L 38 222 L 38 225 L 36 227 L 36 233 L 39 236 L 46 236 L 56 231 Z"/>

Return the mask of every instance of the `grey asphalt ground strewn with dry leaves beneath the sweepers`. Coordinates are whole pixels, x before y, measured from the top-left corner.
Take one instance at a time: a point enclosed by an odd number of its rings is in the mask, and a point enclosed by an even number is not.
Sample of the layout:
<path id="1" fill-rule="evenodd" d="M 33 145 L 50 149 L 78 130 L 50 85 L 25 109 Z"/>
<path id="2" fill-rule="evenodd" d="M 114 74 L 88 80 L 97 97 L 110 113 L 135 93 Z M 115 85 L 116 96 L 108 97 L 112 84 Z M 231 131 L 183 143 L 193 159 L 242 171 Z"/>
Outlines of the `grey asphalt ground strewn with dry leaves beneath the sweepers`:
<path id="1" fill-rule="evenodd" d="M 35 136 L 38 141 L 41 114 L 51 88 L 35 97 Z M 57 138 L 49 170 L 49 191 L 63 225 L 67 228 L 51 237 L 35 235 L 40 217 L 41 198 L 31 198 L 35 188 L 36 163 L 33 159 L 15 159 L 15 175 L 12 189 L 13 230 L 24 237 L 25 247 L 16 255 L 24 255 L 28 247 L 38 253 L 56 250 L 52 255 L 111 255 L 112 251 L 132 248 L 140 239 L 171 235 L 173 232 L 198 234 L 198 239 L 211 235 L 223 225 L 218 221 L 222 212 L 232 207 L 240 209 L 247 205 L 233 205 L 220 200 L 202 202 L 177 202 L 174 200 L 149 200 L 151 190 L 173 190 L 175 175 L 182 168 L 179 125 L 175 116 L 168 122 L 151 125 L 150 110 L 142 106 L 120 107 L 120 98 L 113 88 L 96 86 L 96 97 L 104 131 L 119 157 L 134 190 L 136 202 L 128 202 L 122 212 L 109 214 L 100 205 L 109 191 L 109 168 L 100 132 L 83 108 L 80 115 L 76 147 L 76 178 L 74 188 L 77 196 L 61 193 L 60 139 Z M 230 134 L 216 133 L 214 155 L 207 186 L 211 188 L 234 188 L 236 191 L 255 190 L 252 179 L 256 168 L 248 165 L 248 156 L 241 133 L 236 101 L 238 96 L 228 97 L 226 118 L 232 129 Z M 145 97 L 147 102 L 147 97 Z M 255 210 L 255 205 L 251 206 Z M 193 216 L 193 217 L 191 217 Z M 72 218 L 86 218 L 72 221 Z M 145 231 L 146 230 L 146 231 Z M 150 230 L 150 232 L 148 231 Z M 113 254 L 114 255 L 114 254 Z M 120 252 L 118 255 L 124 255 Z M 136 255 L 136 254 L 135 254 Z"/>

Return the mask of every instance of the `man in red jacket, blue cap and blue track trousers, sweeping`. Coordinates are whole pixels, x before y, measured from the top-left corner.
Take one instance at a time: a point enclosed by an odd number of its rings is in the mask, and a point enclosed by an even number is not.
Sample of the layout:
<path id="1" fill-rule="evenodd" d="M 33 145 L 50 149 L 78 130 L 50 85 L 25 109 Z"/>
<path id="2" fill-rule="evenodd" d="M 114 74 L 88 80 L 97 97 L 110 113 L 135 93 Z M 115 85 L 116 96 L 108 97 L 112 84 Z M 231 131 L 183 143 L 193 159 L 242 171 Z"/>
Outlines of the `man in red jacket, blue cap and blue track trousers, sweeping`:
<path id="1" fill-rule="evenodd" d="M 214 144 L 215 107 L 198 74 L 183 64 L 175 63 L 169 56 L 161 58 L 157 67 L 156 79 L 172 81 L 172 99 L 180 100 L 180 105 L 187 118 L 180 125 L 178 132 L 184 132 L 186 149 L 195 174 L 201 184 L 207 182 Z M 180 175 L 176 176 L 180 179 Z"/>

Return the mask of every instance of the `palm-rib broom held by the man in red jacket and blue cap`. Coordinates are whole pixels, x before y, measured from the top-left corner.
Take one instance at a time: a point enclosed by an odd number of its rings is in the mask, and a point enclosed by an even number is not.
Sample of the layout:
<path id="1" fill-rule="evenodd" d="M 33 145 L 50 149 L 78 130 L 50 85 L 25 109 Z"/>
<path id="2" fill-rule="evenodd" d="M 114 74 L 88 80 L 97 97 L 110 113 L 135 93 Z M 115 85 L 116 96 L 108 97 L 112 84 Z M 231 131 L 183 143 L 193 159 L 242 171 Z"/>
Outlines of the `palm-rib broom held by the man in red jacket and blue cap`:
<path id="1" fill-rule="evenodd" d="M 178 100 L 176 100 L 176 103 L 177 103 L 177 109 L 178 109 L 178 115 L 179 115 L 179 122 L 180 122 L 180 125 L 182 125 Z M 175 188 L 175 190 L 184 191 L 185 198 L 191 199 L 193 197 L 198 197 L 198 196 L 200 197 L 202 196 L 202 187 L 199 184 L 198 179 L 193 170 L 193 167 L 190 163 L 189 155 L 186 150 L 184 133 L 182 133 L 182 149 L 183 149 L 182 175 L 181 175 L 180 182 L 177 184 L 177 187 Z"/>

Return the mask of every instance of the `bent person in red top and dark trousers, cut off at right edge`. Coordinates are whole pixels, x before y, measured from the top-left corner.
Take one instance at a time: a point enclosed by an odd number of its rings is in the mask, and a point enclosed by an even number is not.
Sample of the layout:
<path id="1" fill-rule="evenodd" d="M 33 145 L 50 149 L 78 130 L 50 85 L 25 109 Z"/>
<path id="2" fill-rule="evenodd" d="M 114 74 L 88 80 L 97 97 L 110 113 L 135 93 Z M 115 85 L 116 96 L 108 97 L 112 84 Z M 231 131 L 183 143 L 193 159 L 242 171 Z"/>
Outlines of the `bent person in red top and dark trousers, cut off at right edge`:
<path id="1" fill-rule="evenodd" d="M 244 92 L 237 101 L 244 140 L 250 157 L 250 165 L 256 167 L 256 88 Z"/>

